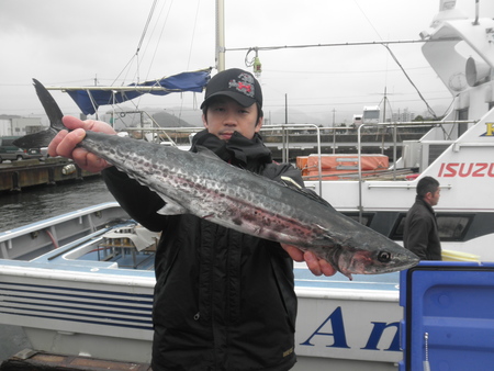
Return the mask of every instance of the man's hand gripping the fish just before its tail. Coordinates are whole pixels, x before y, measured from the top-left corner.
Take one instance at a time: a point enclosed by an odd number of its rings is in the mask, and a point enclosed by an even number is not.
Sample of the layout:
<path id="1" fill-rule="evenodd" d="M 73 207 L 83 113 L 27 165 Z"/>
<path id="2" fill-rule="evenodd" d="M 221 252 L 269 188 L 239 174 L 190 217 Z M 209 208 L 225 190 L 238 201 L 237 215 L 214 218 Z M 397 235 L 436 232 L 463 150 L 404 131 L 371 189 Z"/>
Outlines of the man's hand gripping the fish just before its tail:
<path id="1" fill-rule="evenodd" d="M 55 138 L 53 138 L 48 146 L 49 156 L 71 158 L 81 169 L 92 172 L 99 172 L 111 166 L 102 158 L 83 148 L 77 147 L 77 145 L 85 138 L 86 131 L 116 134 L 113 127 L 101 121 L 81 121 L 72 116 L 64 116 L 61 121 L 65 126 L 72 131 L 60 131 Z"/>

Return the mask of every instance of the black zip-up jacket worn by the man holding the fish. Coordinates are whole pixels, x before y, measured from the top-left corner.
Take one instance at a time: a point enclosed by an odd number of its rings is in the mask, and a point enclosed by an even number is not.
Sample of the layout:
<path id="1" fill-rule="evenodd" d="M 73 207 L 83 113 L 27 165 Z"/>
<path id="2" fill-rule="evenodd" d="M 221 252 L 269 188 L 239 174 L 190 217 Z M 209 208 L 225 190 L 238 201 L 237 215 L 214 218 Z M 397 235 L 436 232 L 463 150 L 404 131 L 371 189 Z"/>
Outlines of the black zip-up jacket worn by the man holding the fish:
<path id="1" fill-rule="evenodd" d="M 272 162 L 258 134 L 224 142 L 203 131 L 198 146 L 273 180 L 300 171 Z M 191 214 L 159 215 L 165 202 L 115 168 L 103 171 L 122 207 L 162 231 L 156 254 L 153 370 L 289 370 L 295 363 L 293 260 L 278 243 Z"/>

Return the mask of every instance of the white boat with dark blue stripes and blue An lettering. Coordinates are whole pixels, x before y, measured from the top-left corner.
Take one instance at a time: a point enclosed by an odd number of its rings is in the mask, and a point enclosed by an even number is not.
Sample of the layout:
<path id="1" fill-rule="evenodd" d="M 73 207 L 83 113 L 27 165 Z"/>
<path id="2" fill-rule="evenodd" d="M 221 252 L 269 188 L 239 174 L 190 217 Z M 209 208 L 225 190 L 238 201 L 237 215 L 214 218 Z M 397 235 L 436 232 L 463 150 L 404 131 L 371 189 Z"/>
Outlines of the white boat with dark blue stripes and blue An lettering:
<path id="1" fill-rule="evenodd" d="M 114 202 L 0 234 L 0 322 L 22 326 L 36 350 L 149 362 L 158 237 Z M 401 359 L 397 273 L 295 274 L 300 367 L 330 353 L 377 370 Z"/>

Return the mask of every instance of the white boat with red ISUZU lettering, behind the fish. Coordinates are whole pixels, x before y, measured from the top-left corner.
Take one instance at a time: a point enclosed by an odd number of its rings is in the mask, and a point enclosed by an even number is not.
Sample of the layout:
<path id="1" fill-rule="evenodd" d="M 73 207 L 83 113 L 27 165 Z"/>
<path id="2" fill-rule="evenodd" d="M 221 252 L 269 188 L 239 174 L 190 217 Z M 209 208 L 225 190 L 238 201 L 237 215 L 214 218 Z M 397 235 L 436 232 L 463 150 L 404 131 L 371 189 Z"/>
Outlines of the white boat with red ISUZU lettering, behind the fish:
<path id="1" fill-rule="evenodd" d="M 385 169 L 386 180 L 379 179 L 380 171 L 366 177 L 366 158 L 359 153 L 353 156 L 353 179 L 313 178 L 306 187 L 338 211 L 400 241 L 417 182 L 434 177 L 441 188 L 435 211 L 446 258 L 494 261 L 494 203 L 487 193 L 494 177 L 493 25 L 492 16 L 471 20 L 445 7 L 420 33 L 427 41 L 424 56 L 453 97 L 452 110 L 420 139 L 404 142 L 403 157 Z M 401 171 L 411 168 L 415 175 Z M 324 179 L 324 170 L 318 173 Z"/>

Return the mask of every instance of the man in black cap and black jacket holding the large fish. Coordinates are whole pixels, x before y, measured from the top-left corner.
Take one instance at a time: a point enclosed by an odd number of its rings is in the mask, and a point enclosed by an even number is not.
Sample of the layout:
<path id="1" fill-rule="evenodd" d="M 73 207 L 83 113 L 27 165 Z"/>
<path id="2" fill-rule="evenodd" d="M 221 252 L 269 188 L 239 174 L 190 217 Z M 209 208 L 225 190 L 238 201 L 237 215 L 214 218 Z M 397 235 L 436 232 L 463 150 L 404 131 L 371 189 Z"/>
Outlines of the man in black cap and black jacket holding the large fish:
<path id="1" fill-rule="evenodd" d="M 300 171 L 273 162 L 262 143 L 262 92 L 250 72 L 214 76 L 201 109 L 205 130 L 194 136 L 191 151 L 206 148 L 233 166 L 303 187 Z M 162 232 L 155 261 L 153 370 L 291 369 L 296 361 L 293 260 L 305 260 L 316 276 L 333 276 L 335 268 L 312 251 L 171 210 L 168 200 L 77 146 L 86 131 L 116 134 L 110 125 L 70 116 L 63 122 L 71 132 L 57 134 L 49 155 L 102 171 L 128 214 Z"/>

